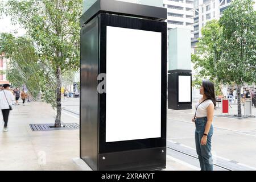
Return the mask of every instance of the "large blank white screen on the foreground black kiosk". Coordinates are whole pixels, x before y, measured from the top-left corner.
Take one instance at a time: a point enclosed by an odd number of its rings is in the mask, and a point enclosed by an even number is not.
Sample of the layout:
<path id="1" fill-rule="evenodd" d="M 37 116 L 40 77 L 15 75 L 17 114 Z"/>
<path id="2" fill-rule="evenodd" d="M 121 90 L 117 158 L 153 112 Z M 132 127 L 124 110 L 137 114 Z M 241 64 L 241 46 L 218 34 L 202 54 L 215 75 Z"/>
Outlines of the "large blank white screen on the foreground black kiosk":
<path id="1" fill-rule="evenodd" d="M 162 33 L 107 26 L 106 142 L 161 137 Z"/>

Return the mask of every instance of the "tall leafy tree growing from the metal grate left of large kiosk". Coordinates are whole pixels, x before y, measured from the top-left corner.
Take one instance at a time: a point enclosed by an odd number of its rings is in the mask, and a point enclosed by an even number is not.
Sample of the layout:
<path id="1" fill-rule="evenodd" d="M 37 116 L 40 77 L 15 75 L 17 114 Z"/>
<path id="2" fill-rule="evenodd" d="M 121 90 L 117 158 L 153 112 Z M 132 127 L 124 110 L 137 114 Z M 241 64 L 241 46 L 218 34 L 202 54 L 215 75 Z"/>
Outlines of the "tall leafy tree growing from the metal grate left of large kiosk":
<path id="1" fill-rule="evenodd" d="M 21 24 L 34 41 L 49 78 L 43 81 L 52 85 L 42 91 L 56 107 L 55 127 L 60 127 L 61 75 L 79 69 L 82 0 L 9 0 L 2 12 Z"/>

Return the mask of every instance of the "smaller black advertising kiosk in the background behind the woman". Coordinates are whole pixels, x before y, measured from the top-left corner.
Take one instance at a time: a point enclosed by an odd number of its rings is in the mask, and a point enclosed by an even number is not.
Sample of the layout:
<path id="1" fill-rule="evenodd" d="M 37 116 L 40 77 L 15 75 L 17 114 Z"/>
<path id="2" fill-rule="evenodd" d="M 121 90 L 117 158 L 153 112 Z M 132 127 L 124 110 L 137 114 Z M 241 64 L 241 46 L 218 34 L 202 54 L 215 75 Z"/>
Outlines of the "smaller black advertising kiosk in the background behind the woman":
<path id="1" fill-rule="evenodd" d="M 168 71 L 168 109 L 192 109 L 191 70 Z"/>

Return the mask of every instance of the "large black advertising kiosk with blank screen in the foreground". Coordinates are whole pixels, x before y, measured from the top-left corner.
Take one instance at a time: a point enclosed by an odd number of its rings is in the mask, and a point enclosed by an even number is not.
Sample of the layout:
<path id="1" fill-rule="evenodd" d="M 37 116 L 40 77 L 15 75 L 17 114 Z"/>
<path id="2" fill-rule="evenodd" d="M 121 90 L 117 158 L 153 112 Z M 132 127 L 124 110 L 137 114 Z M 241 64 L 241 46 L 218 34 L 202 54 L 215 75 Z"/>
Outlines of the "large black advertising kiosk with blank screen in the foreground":
<path id="1" fill-rule="evenodd" d="M 167 10 L 98 0 L 81 17 L 80 158 L 166 168 Z"/>

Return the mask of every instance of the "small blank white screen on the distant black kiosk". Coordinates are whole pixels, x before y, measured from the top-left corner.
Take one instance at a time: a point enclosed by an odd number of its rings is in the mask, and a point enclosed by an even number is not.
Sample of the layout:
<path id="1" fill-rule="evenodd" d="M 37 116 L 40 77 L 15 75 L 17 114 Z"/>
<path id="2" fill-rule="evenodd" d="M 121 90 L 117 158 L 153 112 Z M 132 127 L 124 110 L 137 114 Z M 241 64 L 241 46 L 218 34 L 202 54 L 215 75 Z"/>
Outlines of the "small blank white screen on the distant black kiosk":
<path id="1" fill-rule="evenodd" d="M 191 76 L 179 75 L 179 102 L 191 102 Z"/>

